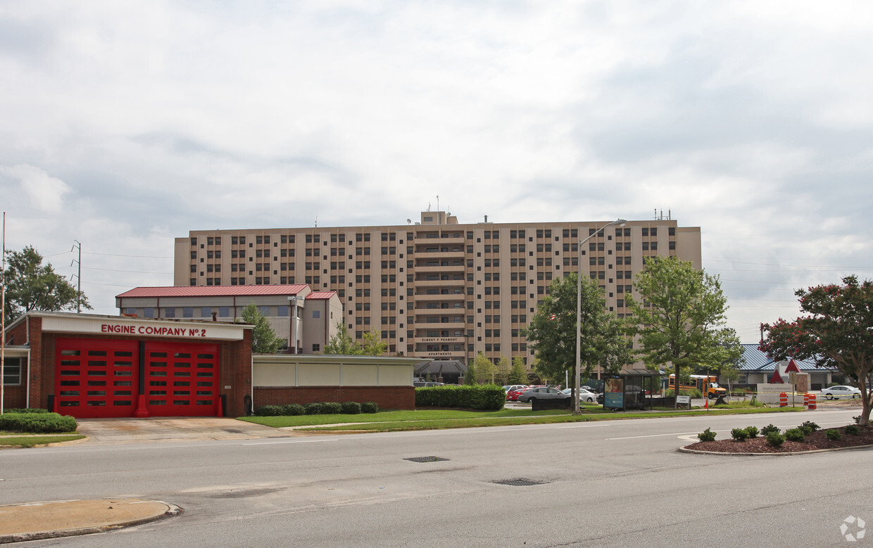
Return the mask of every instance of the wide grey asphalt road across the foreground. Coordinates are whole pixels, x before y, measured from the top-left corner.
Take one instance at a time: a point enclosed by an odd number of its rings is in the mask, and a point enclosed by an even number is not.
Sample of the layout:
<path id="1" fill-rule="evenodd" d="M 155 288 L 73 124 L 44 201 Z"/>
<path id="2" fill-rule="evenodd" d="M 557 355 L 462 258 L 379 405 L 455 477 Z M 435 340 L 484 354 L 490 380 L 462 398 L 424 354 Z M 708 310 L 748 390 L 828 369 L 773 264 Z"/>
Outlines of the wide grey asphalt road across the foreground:
<path id="1" fill-rule="evenodd" d="M 845 545 L 847 517 L 873 525 L 869 449 L 764 457 L 677 448 L 707 427 L 720 439 L 734 427 L 828 427 L 853 414 L 3 451 L 0 504 L 131 497 L 184 509 L 153 524 L 28 545 Z M 405 460 L 424 456 L 447 460 Z M 518 479 L 537 484 L 495 483 Z"/>

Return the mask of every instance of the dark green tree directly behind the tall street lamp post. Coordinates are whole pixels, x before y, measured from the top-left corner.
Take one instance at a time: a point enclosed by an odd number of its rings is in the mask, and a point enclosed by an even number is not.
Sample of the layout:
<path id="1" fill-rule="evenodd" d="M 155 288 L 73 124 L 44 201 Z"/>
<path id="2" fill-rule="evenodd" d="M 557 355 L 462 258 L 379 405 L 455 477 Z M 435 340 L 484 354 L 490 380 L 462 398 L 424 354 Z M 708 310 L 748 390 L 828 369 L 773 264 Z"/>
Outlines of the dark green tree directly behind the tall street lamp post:
<path id="1" fill-rule="evenodd" d="M 553 280 L 549 294 L 527 325 L 528 344 L 537 355 L 534 369 L 540 376 L 563 380 L 575 378 L 576 297 L 578 275 Z M 606 298 L 597 280 L 581 279 L 580 362 L 585 376 L 594 366 L 615 374 L 631 360 L 629 341 L 622 322 L 606 309 Z"/>

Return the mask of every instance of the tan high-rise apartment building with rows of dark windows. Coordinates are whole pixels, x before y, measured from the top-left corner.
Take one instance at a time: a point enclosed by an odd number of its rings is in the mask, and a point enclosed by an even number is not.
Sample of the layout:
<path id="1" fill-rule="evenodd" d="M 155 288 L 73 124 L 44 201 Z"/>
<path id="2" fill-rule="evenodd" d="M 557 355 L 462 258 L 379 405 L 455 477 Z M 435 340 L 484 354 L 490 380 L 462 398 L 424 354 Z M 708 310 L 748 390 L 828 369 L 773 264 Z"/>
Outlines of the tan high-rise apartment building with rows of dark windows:
<path id="1" fill-rule="evenodd" d="M 699 227 L 657 218 L 598 231 L 607 223 L 461 224 L 424 211 L 394 226 L 192 230 L 175 239 L 174 284 L 308 284 L 337 291 L 348 331 L 381 332 L 390 353 L 530 363 L 523 329 L 553 279 L 581 270 L 622 316 L 646 257 L 701 266 Z"/>

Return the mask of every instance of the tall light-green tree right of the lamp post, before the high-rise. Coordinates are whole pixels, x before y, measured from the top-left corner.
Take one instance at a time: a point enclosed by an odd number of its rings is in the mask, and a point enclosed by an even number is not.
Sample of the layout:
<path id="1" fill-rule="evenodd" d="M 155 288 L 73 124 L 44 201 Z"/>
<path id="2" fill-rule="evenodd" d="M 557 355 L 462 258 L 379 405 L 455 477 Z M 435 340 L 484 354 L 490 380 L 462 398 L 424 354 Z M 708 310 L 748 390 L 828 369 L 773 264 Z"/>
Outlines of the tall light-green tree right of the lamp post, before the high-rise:
<path id="1" fill-rule="evenodd" d="M 683 369 L 715 369 L 741 353 L 736 333 L 725 327 L 718 277 L 675 257 L 649 257 L 634 284 L 643 301 L 629 294 L 625 300 L 633 313 L 631 332 L 639 335 L 637 356 L 646 366 L 672 364 L 678 380 Z"/>

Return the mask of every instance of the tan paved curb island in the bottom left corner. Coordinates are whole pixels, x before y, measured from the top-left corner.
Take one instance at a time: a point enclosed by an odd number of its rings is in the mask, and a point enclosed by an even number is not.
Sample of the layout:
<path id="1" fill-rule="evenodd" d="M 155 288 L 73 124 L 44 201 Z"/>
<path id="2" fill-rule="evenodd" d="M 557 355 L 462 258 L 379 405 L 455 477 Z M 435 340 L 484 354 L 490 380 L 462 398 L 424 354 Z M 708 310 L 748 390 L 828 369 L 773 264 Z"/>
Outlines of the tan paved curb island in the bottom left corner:
<path id="1" fill-rule="evenodd" d="M 174 504 L 135 498 L 11 504 L 0 506 L 0 544 L 109 531 L 181 512 Z"/>

